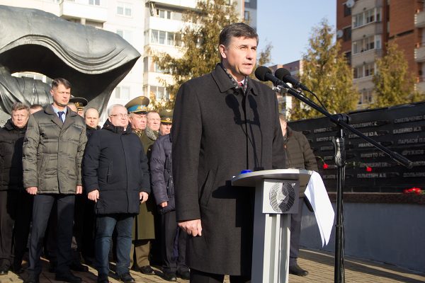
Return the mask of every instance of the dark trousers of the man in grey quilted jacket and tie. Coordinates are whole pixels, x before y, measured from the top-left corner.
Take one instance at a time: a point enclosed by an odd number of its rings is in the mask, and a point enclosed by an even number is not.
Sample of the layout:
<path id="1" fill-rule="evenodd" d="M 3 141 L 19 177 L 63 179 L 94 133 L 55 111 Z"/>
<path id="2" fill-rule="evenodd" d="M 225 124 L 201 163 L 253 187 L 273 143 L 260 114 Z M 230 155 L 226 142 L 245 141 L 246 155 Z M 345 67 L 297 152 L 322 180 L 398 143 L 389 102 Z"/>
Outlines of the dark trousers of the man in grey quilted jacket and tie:
<path id="1" fill-rule="evenodd" d="M 75 195 L 35 195 L 33 205 L 33 229 L 30 240 L 30 265 L 28 271 L 40 275 L 42 241 L 53 204 L 57 205 L 57 274 L 69 272 L 72 260 L 72 222 L 74 220 Z"/>

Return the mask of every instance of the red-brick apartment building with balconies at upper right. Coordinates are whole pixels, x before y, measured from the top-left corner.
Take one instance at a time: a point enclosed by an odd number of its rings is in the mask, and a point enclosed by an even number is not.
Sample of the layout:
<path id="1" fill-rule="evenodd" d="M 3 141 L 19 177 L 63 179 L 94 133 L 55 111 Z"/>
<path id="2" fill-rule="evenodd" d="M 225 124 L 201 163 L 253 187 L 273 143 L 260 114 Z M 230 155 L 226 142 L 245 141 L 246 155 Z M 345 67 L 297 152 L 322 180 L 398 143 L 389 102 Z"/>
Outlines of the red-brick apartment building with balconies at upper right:
<path id="1" fill-rule="evenodd" d="M 425 91 L 424 1 L 336 0 L 336 37 L 353 68 L 353 83 L 361 93 L 358 108 L 373 101 L 375 60 L 385 54 L 387 42 L 396 40 L 416 88 Z"/>

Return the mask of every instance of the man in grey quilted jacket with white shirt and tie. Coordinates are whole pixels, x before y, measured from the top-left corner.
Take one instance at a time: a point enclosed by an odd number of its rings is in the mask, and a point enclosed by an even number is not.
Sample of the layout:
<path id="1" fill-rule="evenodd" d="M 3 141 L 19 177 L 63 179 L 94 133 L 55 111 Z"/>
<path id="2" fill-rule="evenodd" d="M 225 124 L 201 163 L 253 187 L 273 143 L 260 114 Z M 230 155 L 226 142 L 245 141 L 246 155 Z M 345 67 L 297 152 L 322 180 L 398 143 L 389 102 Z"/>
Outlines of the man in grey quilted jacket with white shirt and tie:
<path id="1" fill-rule="evenodd" d="M 53 103 L 28 120 L 23 141 L 23 186 L 34 195 L 33 229 L 27 283 L 37 283 L 41 273 L 42 239 L 53 204 L 57 204 L 56 280 L 81 282 L 69 270 L 75 195 L 81 194 L 81 159 L 86 146 L 82 117 L 67 108 L 71 84 L 54 79 Z"/>

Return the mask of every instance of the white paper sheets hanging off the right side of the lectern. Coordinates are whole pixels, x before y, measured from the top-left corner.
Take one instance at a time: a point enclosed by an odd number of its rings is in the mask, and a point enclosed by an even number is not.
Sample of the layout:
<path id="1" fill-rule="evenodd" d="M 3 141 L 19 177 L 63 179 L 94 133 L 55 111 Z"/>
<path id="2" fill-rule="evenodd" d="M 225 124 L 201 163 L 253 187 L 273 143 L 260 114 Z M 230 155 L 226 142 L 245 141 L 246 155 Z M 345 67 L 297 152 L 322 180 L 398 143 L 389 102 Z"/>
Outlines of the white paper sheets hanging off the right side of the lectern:
<path id="1" fill-rule="evenodd" d="M 305 196 L 312 204 L 323 247 L 329 243 L 334 226 L 335 212 L 319 173 L 313 171 L 305 189 Z"/>

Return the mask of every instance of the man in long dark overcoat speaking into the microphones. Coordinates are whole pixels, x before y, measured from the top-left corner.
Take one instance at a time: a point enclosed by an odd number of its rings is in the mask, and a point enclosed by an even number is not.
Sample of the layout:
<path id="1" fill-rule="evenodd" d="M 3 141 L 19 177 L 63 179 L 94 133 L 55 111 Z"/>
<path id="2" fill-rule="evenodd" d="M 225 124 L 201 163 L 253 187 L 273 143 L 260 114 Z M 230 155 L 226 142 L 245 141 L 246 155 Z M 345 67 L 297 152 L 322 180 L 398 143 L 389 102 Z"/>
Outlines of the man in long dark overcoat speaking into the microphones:
<path id="1" fill-rule="evenodd" d="M 174 108 L 176 220 L 188 233 L 191 282 L 250 282 L 254 188 L 232 187 L 244 169 L 285 168 L 278 102 L 249 74 L 258 35 L 244 23 L 220 33 L 221 62 L 183 83 Z"/>

